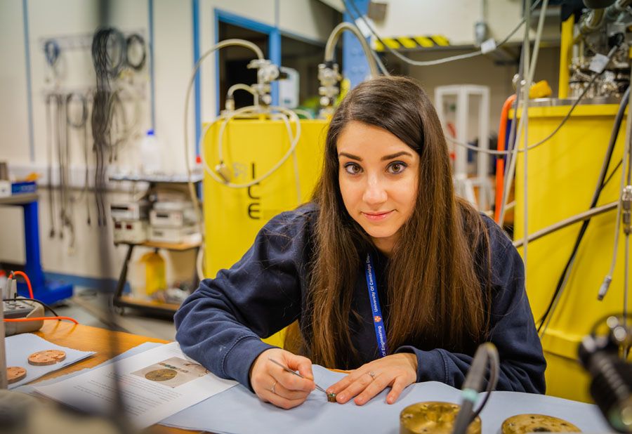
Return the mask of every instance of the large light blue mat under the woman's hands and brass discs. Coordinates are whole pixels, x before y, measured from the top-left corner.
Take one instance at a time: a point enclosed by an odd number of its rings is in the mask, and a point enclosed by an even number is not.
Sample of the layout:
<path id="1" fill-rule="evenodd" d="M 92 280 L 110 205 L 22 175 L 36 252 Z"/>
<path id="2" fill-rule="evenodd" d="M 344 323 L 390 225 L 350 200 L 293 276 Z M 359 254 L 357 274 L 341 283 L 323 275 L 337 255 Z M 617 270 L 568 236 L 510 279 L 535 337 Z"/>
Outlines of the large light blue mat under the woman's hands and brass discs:
<path id="1" fill-rule="evenodd" d="M 344 374 L 320 366 L 315 380 L 327 388 Z M 244 386 L 238 385 L 189 407 L 161 423 L 167 426 L 208 430 L 212 433 L 399 433 L 400 412 L 422 401 L 460 402 L 460 390 L 436 381 L 416 383 L 404 390 L 393 405 L 386 404 L 383 391 L 363 406 L 352 402 L 327 402 L 324 393 L 313 392 L 303 405 L 290 410 L 261 402 Z M 494 392 L 481 414 L 482 432 L 499 433 L 505 419 L 515 414 L 539 413 L 574 423 L 584 433 L 610 432 L 595 405 L 558 397 L 516 392 Z"/>

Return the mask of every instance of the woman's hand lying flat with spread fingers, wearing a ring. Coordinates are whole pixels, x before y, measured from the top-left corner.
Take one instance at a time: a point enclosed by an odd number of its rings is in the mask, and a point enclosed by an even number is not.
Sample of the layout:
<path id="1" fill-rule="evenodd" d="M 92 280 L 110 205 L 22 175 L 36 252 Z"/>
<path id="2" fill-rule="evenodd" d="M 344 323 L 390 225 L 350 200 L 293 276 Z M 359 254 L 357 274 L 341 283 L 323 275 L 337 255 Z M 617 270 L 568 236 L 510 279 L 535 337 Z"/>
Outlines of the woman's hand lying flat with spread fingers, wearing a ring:
<path id="1" fill-rule="evenodd" d="M 387 355 L 363 364 L 341 381 L 327 388 L 327 393 L 336 393 L 340 404 L 353 400 L 364 405 L 387 387 L 391 387 L 386 402 L 393 404 L 402 390 L 417 380 L 417 357 L 412 353 Z"/>

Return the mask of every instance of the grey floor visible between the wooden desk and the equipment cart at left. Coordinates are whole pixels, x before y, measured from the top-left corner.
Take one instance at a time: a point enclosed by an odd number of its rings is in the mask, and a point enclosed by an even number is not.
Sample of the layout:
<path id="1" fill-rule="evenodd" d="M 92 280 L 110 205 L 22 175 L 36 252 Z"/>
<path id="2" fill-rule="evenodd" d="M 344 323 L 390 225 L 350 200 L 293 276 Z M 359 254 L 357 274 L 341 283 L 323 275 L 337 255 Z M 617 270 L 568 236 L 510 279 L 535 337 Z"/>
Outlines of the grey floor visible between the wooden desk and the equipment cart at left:
<path id="1" fill-rule="evenodd" d="M 72 317 L 79 322 L 93 327 L 107 328 L 109 314 L 107 307 L 111 295 L 93 289 L 75 287 L 74 296 L 62 304 L 53 306 L 58 315 Z M 114 327 L 132 334 L 150 336 L 152 338 L 173 341 L 176 338 L 176 327 L 173 320 L 160 317 L 147 317 L 126 309 L 124 315 L 112 314 Z"/>

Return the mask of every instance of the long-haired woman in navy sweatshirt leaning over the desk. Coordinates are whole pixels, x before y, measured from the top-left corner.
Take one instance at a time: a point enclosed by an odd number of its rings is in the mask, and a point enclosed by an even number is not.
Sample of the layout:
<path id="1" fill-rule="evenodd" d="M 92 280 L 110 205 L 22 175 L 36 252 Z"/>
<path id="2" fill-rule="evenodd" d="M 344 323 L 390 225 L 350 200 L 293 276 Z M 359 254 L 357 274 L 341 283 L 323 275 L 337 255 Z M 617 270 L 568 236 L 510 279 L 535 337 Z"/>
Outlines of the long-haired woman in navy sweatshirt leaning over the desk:
<path id="1" fill-rule="evenodd" d="M 338 402 L 363 405 L 390 387 L 393 404 L 416 381 L 461 387 L 478 344 L 492 341 L 497 388 L 544 393 L 522 260 L 454 197 L 445 137 L 419 85 L 360 84 L 325 146 L 312 203 L 272 218 L 241 261 L 178 310 L 185 353 L 291 408 L 315 388 L 312 363 L 353 369 L 327 390 Z M 295 320 L 301 355 L 260 340 Z"/>

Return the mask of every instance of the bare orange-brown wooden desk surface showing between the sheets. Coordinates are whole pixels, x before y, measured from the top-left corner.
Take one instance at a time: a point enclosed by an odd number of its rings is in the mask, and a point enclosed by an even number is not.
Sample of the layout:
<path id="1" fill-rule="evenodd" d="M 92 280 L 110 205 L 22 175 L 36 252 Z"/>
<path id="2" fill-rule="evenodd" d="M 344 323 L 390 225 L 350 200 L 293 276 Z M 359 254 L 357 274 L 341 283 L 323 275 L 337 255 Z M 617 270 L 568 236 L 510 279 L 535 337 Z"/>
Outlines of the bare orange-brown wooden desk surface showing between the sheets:
<path id="1" fill-rule="evenodd" d="M 110 338 L 109 334 L 114 333 L 117 338 L 117 350 L 110 353 Z M 79 371 L 84 368 L 96 367 L 98 364 L 110 360 L 115 355 L 124 353 L 125 351 L 140 345 L 145 342 L 158 342 L 167 343 L 162 339 L 148 338 L 147 336 L 138 336 L 136 334 L 123 333 L 122 331 L 112 331 L 106 329 L 99 329 L 98 327 L 84 326 L 81 324 L 72 324 L 65 321 L 45 321 L 44 327 L 38 331 L 37 336 L 46 339 L 52 343 L 56 343 L 60 346 L 66 346 L 68 348 L 74 348 L 75 350 L 82 351 L 96 351 L 93 357 L 89 357 L 86 360 L 81 360 L 71 364 L 69 367 L 65 367 L 58 371 L 51 372 L 36 381 L 44 381 L 48 379 L 54 379 L 55 377 L 70 374 L 74 371 Z M 178 428 L 160 427 L 160 433 L 170 434 L 191 434 L 199 433 L 200 431 L 180 430 Z"/>

